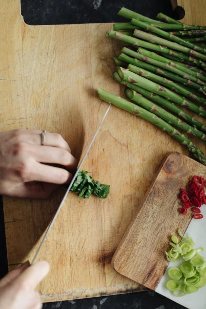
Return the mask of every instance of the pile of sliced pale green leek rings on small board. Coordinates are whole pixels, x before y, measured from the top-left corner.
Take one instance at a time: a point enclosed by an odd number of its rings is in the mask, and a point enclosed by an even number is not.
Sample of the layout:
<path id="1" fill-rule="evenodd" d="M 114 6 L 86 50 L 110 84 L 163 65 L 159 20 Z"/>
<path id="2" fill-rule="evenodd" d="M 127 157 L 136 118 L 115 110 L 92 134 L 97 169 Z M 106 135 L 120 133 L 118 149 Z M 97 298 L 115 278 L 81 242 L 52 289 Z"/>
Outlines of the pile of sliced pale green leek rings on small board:
<path id="1" fill-rule="evenodd" d="M 166 287 L 175 296 L 184 296 L 194 293 L 206 285 L 206 261 L 199 254 L 199 252 L 204 251 L 204 248 L 194 249 L 193 239 L 184 237 L 180 230 L 178 233 L 182 241 L 180 243 L 170 242 L 173 248 L 169 252 L 165 252 L 166 258 L 168 261 L 175 261 L 182 256 L 185 262 L 180 265 L 180 268 L 172 267 L 168 269 L 168 275 L 171 279 L 166 282 Z M 174 241 L 177 237 L 173 235 L 171 238 Z M 178 294 L 177 291 L 179 291 Z"/>

